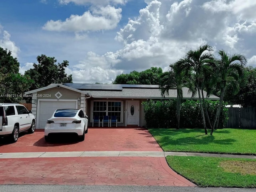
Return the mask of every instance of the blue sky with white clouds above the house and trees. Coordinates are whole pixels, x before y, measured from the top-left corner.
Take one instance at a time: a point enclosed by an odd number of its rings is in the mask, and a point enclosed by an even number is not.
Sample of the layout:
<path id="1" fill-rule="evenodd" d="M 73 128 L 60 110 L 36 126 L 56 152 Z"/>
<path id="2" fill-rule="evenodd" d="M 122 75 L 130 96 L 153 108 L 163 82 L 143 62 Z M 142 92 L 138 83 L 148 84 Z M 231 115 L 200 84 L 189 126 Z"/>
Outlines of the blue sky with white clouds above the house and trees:
<path id="1" fill-rule="evenodd" d="M 73 82 L 111 83 L 116 75 L 168 65 L 208 42 L 242 53 L 256 67 L 256 1 L 6 0 L 0 46 L 24 73 L 41 54 L 68 60 Z"/>

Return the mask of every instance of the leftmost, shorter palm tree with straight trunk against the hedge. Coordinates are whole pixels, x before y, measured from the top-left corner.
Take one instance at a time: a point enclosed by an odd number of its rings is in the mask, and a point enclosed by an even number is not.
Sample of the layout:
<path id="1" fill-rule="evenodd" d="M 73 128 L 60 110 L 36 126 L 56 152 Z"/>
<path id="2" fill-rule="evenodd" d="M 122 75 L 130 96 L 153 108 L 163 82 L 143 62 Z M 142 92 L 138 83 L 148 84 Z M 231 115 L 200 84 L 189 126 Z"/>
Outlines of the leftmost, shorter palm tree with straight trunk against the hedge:
<path id="1" fill-rule="evenodd" d="M 162 74 L 160 78 L 160 84 L 159 87 L 161 89 L 161 95 L 164 97 L 165 94 L 169 95 L 169 89 L 172 89 L 176 87 L 177 89 L 177 106 L 176 106 L 176 112 L 177 112 L 177 129 L 180 128 L 180 105 L 181 100 L 183 98 L 183 92 L 182 87 L 185 85 L 186 80 L 184 79 L 185 76 L 183 74 L 178 74 L 176 72 L 175 64 L 170 65 L 170 70 L 166 71 Z"/>

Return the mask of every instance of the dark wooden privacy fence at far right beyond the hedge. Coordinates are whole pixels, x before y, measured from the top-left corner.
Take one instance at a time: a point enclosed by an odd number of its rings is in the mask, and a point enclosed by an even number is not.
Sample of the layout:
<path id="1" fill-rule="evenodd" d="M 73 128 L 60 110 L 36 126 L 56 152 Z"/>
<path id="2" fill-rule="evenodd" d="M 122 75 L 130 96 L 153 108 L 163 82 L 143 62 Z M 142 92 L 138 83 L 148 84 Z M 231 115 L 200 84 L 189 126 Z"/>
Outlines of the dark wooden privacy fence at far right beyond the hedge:
<path id="1" fill-rule="evenodd" d="M 227 128 L 256 129 L 256 108 L 228 108 Z"/>

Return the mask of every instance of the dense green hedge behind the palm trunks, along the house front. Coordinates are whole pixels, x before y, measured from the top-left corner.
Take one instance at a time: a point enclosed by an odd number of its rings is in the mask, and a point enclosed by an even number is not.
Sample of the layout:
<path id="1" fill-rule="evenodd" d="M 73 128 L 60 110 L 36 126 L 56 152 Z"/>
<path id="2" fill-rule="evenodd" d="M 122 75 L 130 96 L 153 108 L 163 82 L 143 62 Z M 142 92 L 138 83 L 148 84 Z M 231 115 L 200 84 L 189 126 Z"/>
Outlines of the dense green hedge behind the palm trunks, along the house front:
<path id="1" fill-rule="evenodd" d="M 206 100 L 210 121 L 214 117 L 219 101 Z M 148 128 L 177 128 L 176 100 L 146 101 L 142 102 L 145 112 L 145 120 Z M 218 128 L 226 126 L 228 120 L 228 109 L 222 102 L 220 121 Z M 206 117 L 206 116 L 205 116 Z M 207 127 L 210 128 L 206 119 Z M 180 108 L 180 128 L 203 128 L 199 100 L 186 100 Z"/>

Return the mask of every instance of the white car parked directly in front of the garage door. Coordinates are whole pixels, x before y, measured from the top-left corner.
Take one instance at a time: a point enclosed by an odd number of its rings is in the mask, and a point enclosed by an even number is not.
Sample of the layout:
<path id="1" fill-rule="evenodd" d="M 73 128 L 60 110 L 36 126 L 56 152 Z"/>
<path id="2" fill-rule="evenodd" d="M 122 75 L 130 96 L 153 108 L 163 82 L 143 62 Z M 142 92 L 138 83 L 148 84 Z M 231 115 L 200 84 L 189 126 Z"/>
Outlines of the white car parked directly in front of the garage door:
<path id="1" fill-rule="evenodd" d="M 57 109 L 52 117 L 47 120 L 44 128 L 44 139 L 49 141 L 49 136 L 60 133 L 77 134 L 80 141 L 88 132 L 87 115 L 80 109 Z"/>

